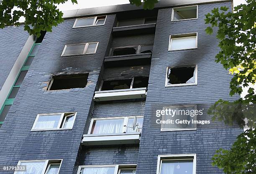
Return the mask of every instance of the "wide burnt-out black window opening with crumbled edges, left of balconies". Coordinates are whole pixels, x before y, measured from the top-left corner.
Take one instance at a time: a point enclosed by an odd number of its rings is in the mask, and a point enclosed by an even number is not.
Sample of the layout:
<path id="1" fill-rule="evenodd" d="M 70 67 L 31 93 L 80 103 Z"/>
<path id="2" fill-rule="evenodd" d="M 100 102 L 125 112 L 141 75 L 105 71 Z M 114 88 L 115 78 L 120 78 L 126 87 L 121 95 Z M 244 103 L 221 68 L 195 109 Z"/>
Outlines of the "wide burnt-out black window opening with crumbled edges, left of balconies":
<path id="1" fill-rule="evenodd" d="M 87 85 L 87 78 L 88 74 L 53 76 L 49 85 L 49 90 L 84 88 Z"/>

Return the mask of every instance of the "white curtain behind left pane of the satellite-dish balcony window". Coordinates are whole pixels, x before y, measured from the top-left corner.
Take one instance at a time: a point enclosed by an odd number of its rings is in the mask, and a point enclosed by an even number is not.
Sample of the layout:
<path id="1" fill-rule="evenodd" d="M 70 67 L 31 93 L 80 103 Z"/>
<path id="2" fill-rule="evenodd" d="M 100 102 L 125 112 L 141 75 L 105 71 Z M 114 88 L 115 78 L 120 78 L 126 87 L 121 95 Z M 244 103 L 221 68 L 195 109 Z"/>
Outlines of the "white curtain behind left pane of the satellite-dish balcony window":
<path id="1" fill-rule="evenodd" d="M 121 133 L 124 119 L 97 120 L 92 134 Z"/>

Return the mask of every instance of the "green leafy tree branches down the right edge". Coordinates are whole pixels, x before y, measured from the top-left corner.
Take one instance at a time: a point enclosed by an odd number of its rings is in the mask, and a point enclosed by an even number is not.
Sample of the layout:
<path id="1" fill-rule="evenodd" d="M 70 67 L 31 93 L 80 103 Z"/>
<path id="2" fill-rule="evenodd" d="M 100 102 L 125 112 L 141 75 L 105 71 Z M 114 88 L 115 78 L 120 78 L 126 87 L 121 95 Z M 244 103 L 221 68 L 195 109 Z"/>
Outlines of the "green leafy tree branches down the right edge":
<path id="1" fill-rule="evenodd" d="M 220 40 L 220 52 L 216 62 L 228 69 L 233 78 L 230 81 L 230 96 L 240 95 L 242 87 L 256 83 L 256 1 L 247 0 L 228 12 L 227 7 L 214 8 L 205 15 L 205 23 L 211 24 L 206 33 L 212 34 L 218 27 L 217 38 Z M 241 128 L 256 128 L 256 94 L 254 88 L 248 88 L 248 94 L 236 101 L 217 101 L 208 110 L 213 120 L 224 121 Z M 246 123 L 247 122 L 247 123 Z M 230 150 L 219 149 L 212 158 L 213 165 L 223 169 L 225 174 L 256 173 L 256 130 L 248 129 L 240 134 Z"/>

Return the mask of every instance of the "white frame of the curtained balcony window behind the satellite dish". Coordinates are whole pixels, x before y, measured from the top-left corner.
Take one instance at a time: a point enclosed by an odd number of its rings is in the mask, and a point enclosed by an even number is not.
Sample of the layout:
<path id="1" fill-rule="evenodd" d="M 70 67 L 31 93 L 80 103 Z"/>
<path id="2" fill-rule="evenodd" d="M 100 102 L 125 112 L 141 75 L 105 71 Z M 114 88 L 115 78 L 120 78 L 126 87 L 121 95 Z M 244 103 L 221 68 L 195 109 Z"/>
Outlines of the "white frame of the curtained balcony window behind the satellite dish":
<path id="1" fill-rule="evenodd" d="M 141 116 L 141 115 L 138 115 L 138 116 L 118 116 L 118 117 L 92 118 L 87 135 L 93 135 L 93 134 L 91 134 L 91 131 L 92 131 L 92 125 L 93 125 L 94 121 L 97 121 L 97 120 L 110 120 L 110 119 L 124 119 L 122 133 L 129 134 L 129 133 L 127 133 L 127 127 L 126 127 L 127 124 L 128 124 L 128 119 L 129 118 L 134 118 L 134 117 L 143 118 L 143 121 L 144 121 L 144 116 Z M 99 134 L 99 135 L 101 135 L 101 134 Z M 104 134 L 102 134 L 102 135 L 104 135 Z"/>

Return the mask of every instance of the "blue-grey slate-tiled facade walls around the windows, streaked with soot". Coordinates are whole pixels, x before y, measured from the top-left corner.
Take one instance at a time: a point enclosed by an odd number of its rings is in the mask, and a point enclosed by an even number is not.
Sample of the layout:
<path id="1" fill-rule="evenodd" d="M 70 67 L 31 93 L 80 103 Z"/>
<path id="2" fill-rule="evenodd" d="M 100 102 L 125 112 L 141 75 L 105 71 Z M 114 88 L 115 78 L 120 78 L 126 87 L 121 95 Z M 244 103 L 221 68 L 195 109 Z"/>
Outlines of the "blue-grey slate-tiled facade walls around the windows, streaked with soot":
<path id="1" fill-rule="evenodd" d="M 236 136 L 241 134 L 241 129 L 216 122 L 199 125 L 197 130 L 163 132 L 161 125 L 155 122 L 156 109 L 164 106 L 194 103 L 198 104 L 198 108 L 207 109 L 219 98 L 238 98 L 228 95 L 231 76 L 214 61 L 219 51 L 216 33 L 205 33 L 207 25 L 204 15 L 221 6 L 231 8 L 231 1 L 198 4 L 198 19 L 184 21 L 170 20 L 172 6 L 157 8 L 155 33 L 124 37 L 114 37 L 112 33 L 118 12 L 99 12 L 100 15 L 107 15 L 105 25 L 101 26 L 72 28 L 75 18 L 65 19 L 64 23 L 53 28 L 52 33 L 46 33 L 0 129 L 0 165 L 17 165 L 20 160 L 62 159 L 59 174 L 77 174 L 78 166 L 82 165 L 112 164 L 137 164 L 136 174 L 156 174 L 158 155 L 197 154 L 197 174 L 222 174 L 211 165 L 211 158 L 217 149 L 230 148 Z M 127 5 L 123 7 L 125 9 Z M 97 16 L 97 13 L 92 16 Z M 16 34 L 13 35 L 13 32 Z M 168 51 L 169 35 L 182 33 L 197 33 L 197 49 Z M 19 38 L 15 45 L 10 43 L 14 37 Z M 4 68 L 4 73 L 0 75 L 0 88 L 27 38 L 23 26 L 0 30 L 0 47 L 4 50 L 0 53 L 1 66 Z M 6 43 L 5 40 L 10 41 Z M 99 42 L 95 54 L 61 57 L 66 44 L 90 42 Z M 154 44 L 151 65 L 104 67 L 104 58 L 109 55 L 110 48 L 143 44 Z M 198 66 L 197 85 L 165 87 L 166 67 L 195 64 Z M 89 73 L 87 86 L 47 90 L 52 76 L 71 73 Z M 142 74 L 149 74 L 146 99 L 93 100 L 102 79 Z M 77 112 L 71 130 L 31 131 L 37 114 L 62 112 Z M 135 115 L 144 116 L 139 144 L 81 144 L 92 118 Z M 205 113 L 200 119 L 210 120 L 211 116 Z"/>

